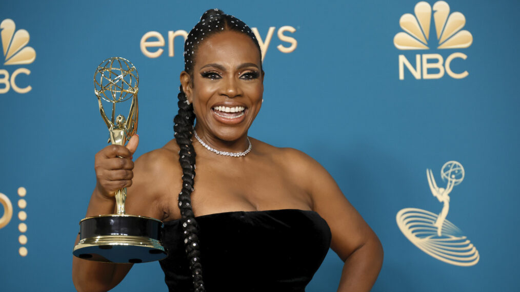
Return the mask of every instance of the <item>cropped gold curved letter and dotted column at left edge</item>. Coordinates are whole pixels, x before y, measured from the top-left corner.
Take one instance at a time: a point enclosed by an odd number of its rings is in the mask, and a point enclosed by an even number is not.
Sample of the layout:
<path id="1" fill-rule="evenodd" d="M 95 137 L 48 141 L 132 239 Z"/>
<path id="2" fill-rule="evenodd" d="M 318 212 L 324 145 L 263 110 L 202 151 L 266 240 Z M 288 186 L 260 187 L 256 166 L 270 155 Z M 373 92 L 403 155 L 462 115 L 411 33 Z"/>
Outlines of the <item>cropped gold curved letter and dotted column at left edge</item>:
<path id="1" fill-rule="evenodd" d="M 18 200 L 18 208 L 20 208 L 20 211 L 18 211 L 18 219 L 20 220 L 18 231 L 21 233 L 18 236 L 18 242 L 21 245 L 18 249 L 18 253 L 20 256 L 25 257 L 27 256 L 27 247 L 24 245 L 27 244 L 27 236 L 25 236 L 24 233 L 27 232 L 27 224 L 25 224 L 24 221 L 27 220 L 27 213 L 25 213 L 24 209 L 27 207 L 27 201 L 25 201 L 23 197 L 27 195 L 27 190 L 25 190 L 24 187 L 18 188 L 18 195 L 20 196 L 20 199 Z M 11 221 L 13 209 L 11 200 L 9 200 L 9 197 L 3 193 L 0 193 L 0 205 L 4 208 L 4 215 L 0 217 L 0 229 L 2 229 Z"/>

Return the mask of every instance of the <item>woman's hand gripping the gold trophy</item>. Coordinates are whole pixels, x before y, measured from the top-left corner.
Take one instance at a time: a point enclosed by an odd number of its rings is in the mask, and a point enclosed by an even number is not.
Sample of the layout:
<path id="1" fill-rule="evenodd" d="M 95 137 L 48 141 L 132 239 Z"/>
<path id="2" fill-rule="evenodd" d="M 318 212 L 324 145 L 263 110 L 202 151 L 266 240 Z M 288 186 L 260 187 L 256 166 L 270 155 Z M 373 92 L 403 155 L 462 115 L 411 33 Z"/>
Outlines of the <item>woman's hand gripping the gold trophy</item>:
<path id="1" fill-rule="evenodd" d="M 134 177 L 132 155 L 139 144 L 139 136 L 132 136 L 126 146 L 108 145 L 95 156 L 96 189 L 105 198 L 114 197 L 115 191 L 130 187 Z"/>

